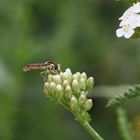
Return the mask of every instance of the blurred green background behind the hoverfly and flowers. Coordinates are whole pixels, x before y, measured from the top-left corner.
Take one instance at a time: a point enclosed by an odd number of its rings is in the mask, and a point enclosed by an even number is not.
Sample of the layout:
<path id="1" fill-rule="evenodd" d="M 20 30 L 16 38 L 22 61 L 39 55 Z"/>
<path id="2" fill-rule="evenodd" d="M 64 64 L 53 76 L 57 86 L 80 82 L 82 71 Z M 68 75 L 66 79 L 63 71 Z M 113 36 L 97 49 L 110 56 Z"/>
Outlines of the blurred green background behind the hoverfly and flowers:
<path id="1" fill-rule="evenodd" d="M 44 97 L 39 71 L 22 68 L 53 60 L 63 70 L 93 76 L 97 89 L 140 83 L 140 41 L 115 35 L 129 6 L 127 0 L 0 1 L 0 140 L 91 140 L 67 110 Z M 105 108 L 105 94 L 91 92 L 91 125 L 106 140 L 119 140 L 115 108 Z M 139 105 L 126 106 L 137 139 Z"/>

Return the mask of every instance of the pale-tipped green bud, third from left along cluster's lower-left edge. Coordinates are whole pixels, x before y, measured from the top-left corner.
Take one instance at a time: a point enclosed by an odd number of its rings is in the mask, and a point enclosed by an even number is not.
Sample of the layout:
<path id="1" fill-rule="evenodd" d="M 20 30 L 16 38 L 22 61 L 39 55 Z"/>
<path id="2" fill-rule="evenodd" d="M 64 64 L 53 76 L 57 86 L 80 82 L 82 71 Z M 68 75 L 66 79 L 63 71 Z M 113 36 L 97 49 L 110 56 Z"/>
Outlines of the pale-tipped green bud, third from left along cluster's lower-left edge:
<path id="1" fill-rule="evenodd" d="M 56 89 L 56 91 L 55 91 L 56 98 L 61 100 L 63 98 L 63 95 L 64 95 L 63 87 L 60 84 L 58 84 L 55 89 Z"/>

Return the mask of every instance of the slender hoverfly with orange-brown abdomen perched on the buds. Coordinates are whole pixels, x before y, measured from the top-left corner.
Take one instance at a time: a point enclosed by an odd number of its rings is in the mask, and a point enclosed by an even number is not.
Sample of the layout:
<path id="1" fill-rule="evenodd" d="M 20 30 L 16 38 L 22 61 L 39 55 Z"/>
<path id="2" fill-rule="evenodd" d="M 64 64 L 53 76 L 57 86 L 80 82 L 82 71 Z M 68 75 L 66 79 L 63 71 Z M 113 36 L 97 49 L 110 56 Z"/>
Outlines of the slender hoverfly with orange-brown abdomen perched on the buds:
<path id="1" fill-rule="evenodd" d="M 30 70 L 48 70 L 48 71 L 57 71 L 60 70 L 60 64 L 47 61 L 45 63 L 35 63 L 35 64 L 27 64 L 24 68 L 24 72 L 28 72 Z"/>

